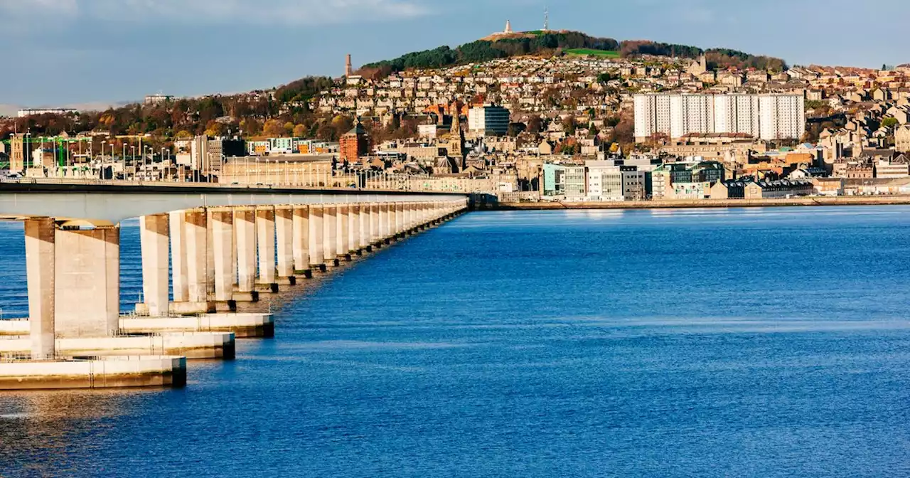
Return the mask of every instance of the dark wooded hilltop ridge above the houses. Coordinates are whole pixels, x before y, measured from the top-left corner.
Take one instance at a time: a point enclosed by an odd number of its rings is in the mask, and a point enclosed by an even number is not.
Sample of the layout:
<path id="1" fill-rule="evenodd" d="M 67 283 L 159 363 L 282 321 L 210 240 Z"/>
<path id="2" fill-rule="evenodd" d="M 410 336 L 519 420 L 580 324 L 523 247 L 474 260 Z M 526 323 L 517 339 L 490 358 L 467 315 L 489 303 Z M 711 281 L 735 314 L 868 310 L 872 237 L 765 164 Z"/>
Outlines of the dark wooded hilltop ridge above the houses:
<path id="1" fill-rule="evenodd" d="M 455 48 L 440 46 L 432 50 L 409 53 L 391 60 L 364 65 L 360 69 L 360 73 L 364 76 L 381 77 L 411 68 L 443 68 L 511 56 L 554 55 L 562 50 L 579 48 L 617 51 L 623 57 L 655 55 L 697 58 L 704 55 L 707 57 L 709 67 L 754 67 L 772 71 L 784 71 L 787 68 L 781 58 L 754 56 L 728 48 L 703 50 L 697 46 L 673 45 L 648 40 L 619 42 L 613 38 L 589 36 L 581 32 L 535 31 L 488 36 Z"/>

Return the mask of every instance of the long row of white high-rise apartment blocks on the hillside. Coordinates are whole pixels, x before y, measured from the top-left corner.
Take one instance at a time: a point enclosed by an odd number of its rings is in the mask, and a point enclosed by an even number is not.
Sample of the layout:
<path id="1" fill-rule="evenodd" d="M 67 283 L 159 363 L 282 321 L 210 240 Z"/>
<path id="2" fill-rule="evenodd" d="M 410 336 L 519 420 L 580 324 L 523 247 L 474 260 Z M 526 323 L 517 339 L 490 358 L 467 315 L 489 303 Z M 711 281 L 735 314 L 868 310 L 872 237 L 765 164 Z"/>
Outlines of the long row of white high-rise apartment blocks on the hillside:
<path id="1" fill-rule="evenodd" d="M 798 139 L 805 132 L 801 95 L 654 94 L 634 100 L 637 142 L 654 134 L 744 133 L 772 140 Z"/>

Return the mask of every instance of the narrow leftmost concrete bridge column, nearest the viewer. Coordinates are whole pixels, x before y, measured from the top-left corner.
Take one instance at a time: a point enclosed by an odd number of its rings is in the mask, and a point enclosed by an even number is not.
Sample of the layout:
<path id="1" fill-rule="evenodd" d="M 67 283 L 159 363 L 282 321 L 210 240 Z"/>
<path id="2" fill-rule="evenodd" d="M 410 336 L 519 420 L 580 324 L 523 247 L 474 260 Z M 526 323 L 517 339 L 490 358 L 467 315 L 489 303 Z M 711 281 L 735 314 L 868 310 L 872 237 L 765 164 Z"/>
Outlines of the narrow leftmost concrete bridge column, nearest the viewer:
<path id="1" fill-rule="evenodd" d="M 56 355 L 54 328 L 54 275 L 56 225 L 51 218 L 25 219 L 25 277 L 32 358 Z"/>

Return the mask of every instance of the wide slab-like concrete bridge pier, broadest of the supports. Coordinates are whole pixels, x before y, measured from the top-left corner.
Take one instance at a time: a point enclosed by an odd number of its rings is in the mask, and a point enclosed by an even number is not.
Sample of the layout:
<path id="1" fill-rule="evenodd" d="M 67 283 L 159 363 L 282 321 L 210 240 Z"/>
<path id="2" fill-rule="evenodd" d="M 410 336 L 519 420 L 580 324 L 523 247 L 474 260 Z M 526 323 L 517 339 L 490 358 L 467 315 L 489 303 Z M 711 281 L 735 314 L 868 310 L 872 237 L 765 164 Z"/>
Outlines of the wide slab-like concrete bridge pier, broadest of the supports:
<path id="1" fill-rule="evenodd" d="M 57 230 L 55 268 L 57 337 L 114 335 L 120 319 L 120 228 Z"/>

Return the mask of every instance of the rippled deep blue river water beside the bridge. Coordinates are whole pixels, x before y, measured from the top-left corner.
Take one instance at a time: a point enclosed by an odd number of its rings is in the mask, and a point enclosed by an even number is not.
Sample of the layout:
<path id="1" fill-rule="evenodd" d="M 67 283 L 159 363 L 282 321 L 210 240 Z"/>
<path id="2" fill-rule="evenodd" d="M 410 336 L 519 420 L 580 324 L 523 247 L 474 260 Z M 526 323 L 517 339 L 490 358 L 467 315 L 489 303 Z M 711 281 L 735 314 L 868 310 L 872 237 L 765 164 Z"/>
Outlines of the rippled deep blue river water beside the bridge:
<path id="1" fill-rule="evenodd" d="M 907 258 L 905 207 L 471 213 L 184 390 L 0 394 L 0 476 L 910 476 Z"/>

